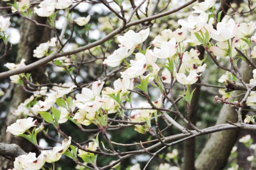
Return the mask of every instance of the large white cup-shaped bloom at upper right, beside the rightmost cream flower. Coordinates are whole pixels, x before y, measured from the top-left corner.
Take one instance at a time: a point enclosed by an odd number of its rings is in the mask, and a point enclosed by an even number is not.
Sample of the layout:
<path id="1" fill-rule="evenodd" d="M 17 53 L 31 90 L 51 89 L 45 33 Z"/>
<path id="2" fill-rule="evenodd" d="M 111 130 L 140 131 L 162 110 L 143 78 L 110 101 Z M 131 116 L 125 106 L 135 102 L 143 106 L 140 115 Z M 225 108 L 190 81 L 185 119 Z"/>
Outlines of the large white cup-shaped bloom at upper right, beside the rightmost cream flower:
<path id="1" fill-rule="evenodd" d="M 227 23 L 218 23 L 217 29 L 211 29 L 210 36 L 216 41 L 227 41 L 235 37 L 239 24 L 231 18 Z"/>

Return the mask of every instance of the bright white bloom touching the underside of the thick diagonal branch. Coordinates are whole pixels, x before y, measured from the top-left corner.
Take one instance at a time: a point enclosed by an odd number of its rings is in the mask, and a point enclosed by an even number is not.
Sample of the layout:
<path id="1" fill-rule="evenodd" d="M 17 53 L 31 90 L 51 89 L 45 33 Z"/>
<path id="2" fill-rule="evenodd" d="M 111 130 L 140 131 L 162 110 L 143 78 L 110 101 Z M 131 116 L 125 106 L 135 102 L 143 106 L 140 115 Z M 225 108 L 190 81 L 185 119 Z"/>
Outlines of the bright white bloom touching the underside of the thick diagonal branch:
<path id="1" fill-rule="evenodd" d="M 134 46 L 144 42 L 149 34 L 149 28 L 145 30 L 141 30 L 138 33 L 134 32 L 133 30 L 129 30 L 124 34 L 124 36 L 118 36 L 117 40 L 122 44 L 124 47 L 131 49 Z"/>

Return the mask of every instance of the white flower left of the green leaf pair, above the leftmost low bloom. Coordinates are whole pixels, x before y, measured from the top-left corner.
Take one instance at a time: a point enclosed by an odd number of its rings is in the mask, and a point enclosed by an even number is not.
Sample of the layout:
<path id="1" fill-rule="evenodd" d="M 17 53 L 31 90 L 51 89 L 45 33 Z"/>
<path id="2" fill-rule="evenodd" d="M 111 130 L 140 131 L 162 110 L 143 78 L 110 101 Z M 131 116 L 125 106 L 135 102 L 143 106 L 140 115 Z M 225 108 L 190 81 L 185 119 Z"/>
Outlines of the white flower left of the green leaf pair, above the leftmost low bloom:
<path id="1" fill-rule="evenodd" d="M 47 98 L 44 101 L 38 101 L 32 108 L 34 111 L 48 111 L 52 105 L 56 102 L 55 94 L 47 94 Z"/>

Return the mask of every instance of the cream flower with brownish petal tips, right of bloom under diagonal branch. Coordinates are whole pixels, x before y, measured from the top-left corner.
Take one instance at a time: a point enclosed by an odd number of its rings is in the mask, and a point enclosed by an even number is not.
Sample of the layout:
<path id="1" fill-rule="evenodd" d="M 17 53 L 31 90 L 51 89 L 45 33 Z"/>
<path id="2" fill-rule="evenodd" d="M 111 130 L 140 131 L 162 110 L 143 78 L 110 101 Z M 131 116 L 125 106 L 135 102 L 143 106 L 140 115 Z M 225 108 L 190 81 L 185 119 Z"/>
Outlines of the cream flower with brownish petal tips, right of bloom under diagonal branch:
<path id="1" fill-rule="evenodd" d="M 154 40 L 152 41 L 152 45 L 154 45 L 157 48 L 160 48 L 162 42 L 171 40 L 172 37 L 172 30 L 164 29 L 160 32 L 160 34 L 157 35 L 157 37 L 154 38 Z"/>

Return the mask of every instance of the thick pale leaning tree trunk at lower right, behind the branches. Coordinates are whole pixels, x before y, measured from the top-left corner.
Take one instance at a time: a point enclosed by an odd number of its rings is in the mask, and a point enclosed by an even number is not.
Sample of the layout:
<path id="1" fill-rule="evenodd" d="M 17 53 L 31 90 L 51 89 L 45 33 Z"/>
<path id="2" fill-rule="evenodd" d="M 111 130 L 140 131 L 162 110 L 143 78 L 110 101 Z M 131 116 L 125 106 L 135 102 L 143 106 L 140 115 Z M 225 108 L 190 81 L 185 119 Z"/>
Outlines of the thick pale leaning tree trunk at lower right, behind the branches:
<path id="1" fill-rule="evenodd" d="M 242 62 L 240 71 L 245 82 L 253 77 L 253 68 Z M 234 96 L 241 94 L 241 91 L 235 92 Z M 237 98 L 241 101 L 243 96 Z M 226 120 L 237 122 L 237 113 L 230 105 L 223 105 L 216 125 L 225 123 Z M 222 170 L 227 164 L 227 159 L 230 155 L 233 145 L 236 142 L 238 131 L 225 130 L 210 135 L 204 149 L 195 161 L 196 170 Z"/>

